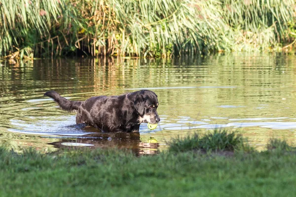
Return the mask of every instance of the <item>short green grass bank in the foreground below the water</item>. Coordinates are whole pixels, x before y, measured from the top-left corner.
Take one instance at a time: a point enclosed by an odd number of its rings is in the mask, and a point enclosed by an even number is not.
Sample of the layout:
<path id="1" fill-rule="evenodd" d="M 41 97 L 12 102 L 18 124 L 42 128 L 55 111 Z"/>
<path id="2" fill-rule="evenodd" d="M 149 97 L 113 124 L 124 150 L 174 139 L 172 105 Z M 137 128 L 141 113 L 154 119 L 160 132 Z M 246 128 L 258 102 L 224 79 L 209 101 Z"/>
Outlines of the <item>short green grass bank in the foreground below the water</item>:
<path id="1" fill-rule="evenodd" d="M 220 139 L 217 146 L 210 145 L 209 142 L 216 139 Z M 241 139 L 227 132 L 216 132 L 216 137 L 196 135 L 172 142 L 166 153 L 145 157 L 135 157 L 127 151 L 101 149 L 45 155 L 27 150 L 19 155 L 1 148 L 0 196 L 294 194 L 295 149 L 284 141 L 271 140 L 270 149 L 265 152 L 251 149 L 246 152 L 240 148 Z M 228 142 L 235 144 L 229 146 Z M 192 146 L 180 151 L 176 149 L 176 143 L 178 147 L 180 143 L 191 143 L 203 148 Z M 219 151 L 223 150 L 234 154 L 222 156 Z"/>

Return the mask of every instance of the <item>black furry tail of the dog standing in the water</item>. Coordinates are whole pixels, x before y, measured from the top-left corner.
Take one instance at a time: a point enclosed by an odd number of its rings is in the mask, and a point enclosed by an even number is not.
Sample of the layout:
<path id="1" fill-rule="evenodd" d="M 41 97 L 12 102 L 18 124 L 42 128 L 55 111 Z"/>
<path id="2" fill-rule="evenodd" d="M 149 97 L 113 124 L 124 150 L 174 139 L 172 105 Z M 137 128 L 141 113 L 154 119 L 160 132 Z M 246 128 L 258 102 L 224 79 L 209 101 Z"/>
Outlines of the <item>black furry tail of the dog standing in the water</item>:
<path id="1" fill-rule="evenodd" d="M 44 96 L 54 99 L 54 101 L 58 103 L 61 109 L 68 112 L 78 110 L 79 106 L 83 103 L 83 101 L 72 101 L 72 100 L 65 99 L 55 91 L 48 91 L 44 94 Z"/>

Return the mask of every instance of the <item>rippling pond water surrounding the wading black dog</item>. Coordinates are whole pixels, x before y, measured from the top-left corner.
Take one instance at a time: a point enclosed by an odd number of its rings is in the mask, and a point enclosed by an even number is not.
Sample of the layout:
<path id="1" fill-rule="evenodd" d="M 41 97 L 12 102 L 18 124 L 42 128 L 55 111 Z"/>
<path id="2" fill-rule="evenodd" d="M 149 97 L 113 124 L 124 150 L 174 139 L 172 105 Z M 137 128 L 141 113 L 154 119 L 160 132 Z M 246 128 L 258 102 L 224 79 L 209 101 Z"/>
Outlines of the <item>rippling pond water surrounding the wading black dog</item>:
<path id="1" fill-rule="evenodd" d="M 55 90 L 71 100 L 149 89 L 161 121 L 140 134 L 99 133 L 75 125 L 75 113 L 43 97 Z M 0 144 L 52 152 L 71 146 L 155 154 L 171 138 L 214 128 L 243 133 L 265 149 L 272 137 L 296 142 L 296 56 L 233 53 L 168 60 L 54 59 L 0 62 Z"/>

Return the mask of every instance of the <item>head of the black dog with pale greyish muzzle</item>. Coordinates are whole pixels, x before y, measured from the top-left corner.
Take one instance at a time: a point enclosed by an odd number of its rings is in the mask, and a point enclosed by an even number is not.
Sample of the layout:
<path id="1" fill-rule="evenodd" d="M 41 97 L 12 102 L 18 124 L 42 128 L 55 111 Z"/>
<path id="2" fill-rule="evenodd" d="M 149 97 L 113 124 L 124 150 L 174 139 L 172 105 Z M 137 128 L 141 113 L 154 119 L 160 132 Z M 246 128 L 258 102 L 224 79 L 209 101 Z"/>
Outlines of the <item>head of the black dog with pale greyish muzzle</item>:
<path id="1" fill-rule="evenodd" d="M 149 90 L 136 92 L 134 107 L 140 115 L 140 123 L 157 124 L 160 118 L 157 114 L 158 100 L 157 95 Z"/>

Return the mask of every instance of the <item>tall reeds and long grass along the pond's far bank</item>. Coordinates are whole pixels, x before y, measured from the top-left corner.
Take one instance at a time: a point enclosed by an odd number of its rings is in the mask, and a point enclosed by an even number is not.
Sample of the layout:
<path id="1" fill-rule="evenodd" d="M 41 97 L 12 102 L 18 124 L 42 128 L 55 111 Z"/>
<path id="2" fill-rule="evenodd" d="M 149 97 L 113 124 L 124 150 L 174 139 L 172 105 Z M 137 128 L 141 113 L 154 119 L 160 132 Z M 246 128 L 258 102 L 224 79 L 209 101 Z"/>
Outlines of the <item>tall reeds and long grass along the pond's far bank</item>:
<path id="1" fill-rule="evenodd" d="M 282 50 L 295 40 L 295 5 L 295 0 L 2 0 L 0 57 Z"/>

